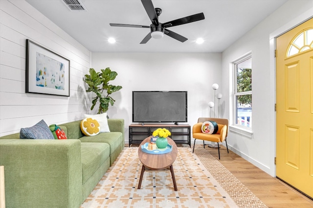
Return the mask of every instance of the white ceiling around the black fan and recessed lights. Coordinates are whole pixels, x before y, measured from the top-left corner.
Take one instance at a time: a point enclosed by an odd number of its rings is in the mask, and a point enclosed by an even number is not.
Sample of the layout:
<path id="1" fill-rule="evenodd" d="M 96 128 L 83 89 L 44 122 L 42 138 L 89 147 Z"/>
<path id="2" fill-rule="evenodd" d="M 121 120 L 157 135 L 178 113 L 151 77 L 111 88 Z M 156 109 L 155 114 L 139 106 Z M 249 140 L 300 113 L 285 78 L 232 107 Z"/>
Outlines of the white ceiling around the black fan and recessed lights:
<path id="1" fill-rule="evenodd" d="M 152 0 L 160 22 L 197 13 L 204 20 L 169 28 L 188 38 L 164 36 L 139 44 L 149 28 L 111 27 L 109 23 L 150 25 L 140 0 L 81 0 L 88 11 L 70 11 L 62 0 L 26 0 L 91 52 L 223 52 L 287 0 Z M 111 44 L 108 38 L 115 38 Z M 195 43 L 203 38 L 201 45 Z"/>

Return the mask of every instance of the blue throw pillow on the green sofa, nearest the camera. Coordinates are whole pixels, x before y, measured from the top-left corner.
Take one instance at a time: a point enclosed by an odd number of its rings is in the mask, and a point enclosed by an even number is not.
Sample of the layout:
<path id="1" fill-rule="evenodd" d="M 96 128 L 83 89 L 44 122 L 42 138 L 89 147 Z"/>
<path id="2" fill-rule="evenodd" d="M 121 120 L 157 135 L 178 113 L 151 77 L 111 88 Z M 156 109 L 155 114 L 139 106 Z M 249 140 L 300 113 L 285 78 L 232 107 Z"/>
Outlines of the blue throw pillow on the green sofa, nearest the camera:
<path id="1" fill-rule="evenodd" d="M 41 120 L 32 127 L 22 128 L 20 139 L 54 139 L 54 136 L 45 121 Z"/>

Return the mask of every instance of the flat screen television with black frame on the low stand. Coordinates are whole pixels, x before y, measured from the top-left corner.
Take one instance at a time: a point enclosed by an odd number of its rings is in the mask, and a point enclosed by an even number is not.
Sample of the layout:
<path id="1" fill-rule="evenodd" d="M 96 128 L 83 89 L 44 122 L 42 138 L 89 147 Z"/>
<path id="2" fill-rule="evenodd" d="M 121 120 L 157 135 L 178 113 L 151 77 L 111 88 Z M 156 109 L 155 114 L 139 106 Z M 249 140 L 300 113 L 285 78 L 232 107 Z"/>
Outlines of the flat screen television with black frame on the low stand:
<path id="1" fill-rule="evenodd" d="M 187 122 L 187 91 L 133 91 L 133 122 Z"/>

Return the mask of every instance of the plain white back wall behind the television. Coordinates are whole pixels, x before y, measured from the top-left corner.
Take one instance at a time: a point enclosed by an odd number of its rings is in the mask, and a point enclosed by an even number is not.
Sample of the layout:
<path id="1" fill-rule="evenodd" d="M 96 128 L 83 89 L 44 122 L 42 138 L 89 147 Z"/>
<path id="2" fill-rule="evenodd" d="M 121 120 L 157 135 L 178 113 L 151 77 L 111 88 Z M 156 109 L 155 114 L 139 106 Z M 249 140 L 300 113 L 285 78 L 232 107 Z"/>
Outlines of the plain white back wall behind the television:
<path id="1" fill-rule="evenodd" d="M 92 53 L 92 68 L 100 71 L 110 67 L 118 73 L 110 83 L 121 85 L 123 89 L 112 94 L 116 102 L 114 106 L 109 106 L 108 114 L 110 118 L 125 119 L 125 141 L 128 143 L 128 126 L 132 123 L 132 91 L 188 91 L 187 123 L 192 126 L 199 117 L 208 117 L 207 103 L 214 100 L 212 84 L 221 84 L 221 55 Z"/>

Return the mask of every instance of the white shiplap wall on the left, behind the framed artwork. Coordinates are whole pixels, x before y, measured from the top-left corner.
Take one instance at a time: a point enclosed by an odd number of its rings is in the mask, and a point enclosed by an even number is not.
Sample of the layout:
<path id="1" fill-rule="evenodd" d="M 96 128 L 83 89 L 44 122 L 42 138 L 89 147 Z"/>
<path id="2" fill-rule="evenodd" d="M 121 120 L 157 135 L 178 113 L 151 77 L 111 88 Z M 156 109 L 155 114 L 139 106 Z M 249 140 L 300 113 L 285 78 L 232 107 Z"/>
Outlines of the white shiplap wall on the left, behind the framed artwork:
<path id="1" fill-rule="evenodd" d="M 26 39 L 70 60 L 70 96 L 25 94 Z M 83 76 L 90 52 L 24 0 L 0 0 L 0 136 L 41 119 L 60 124 L 89 113 Z"/>

